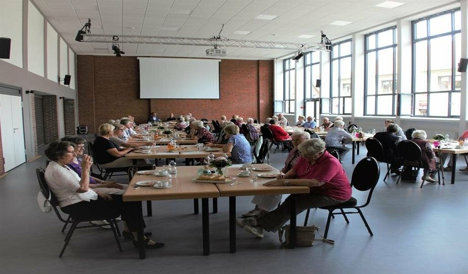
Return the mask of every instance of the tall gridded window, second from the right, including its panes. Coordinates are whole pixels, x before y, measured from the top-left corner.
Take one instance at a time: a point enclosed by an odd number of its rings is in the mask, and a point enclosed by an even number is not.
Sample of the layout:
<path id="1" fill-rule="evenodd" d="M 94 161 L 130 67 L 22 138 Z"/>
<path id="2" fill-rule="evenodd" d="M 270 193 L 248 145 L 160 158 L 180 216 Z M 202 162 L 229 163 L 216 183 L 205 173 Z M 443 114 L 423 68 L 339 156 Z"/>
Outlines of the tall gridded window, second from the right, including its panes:
<path id="1" fill-rule="evenodd" d="M 395 115 L 396 27 L 366 38 L 365 115 Z"/>

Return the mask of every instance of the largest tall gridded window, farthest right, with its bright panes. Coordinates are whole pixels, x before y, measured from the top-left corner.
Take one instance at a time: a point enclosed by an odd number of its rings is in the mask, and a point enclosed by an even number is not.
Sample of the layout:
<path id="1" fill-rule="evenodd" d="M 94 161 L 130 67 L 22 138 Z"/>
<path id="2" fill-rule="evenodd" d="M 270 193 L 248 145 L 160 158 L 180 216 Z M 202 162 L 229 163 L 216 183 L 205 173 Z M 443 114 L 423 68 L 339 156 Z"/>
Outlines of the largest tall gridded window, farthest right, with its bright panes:
<path id="1" fill-rule="evenodd" d="M 459 117 L 461 19 L 451 10 L 412 22 L 412 113 Z"/>

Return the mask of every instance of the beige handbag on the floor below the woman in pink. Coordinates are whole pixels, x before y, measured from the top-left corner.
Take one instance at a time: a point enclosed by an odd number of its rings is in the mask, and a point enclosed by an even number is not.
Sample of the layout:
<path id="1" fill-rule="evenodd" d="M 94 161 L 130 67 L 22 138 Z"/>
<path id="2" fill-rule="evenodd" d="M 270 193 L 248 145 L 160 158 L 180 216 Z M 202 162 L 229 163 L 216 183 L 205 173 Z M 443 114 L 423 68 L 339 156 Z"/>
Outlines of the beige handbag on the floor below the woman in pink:
<path id="1" fill-rule="evenodd" d="M 329 244 L 334 244 L 335 241 L 325 239 L 322 234 L 319 232 L 319 227 L 316 226 L 308 226 L 308 227 L 296 227 L 296 246 L 313 246 L 314 241 L 315 241 L 315 232 L 322 237 L 322 241 L 325 243 Z M 289 244 L 289 231 L 290 231 L 290 226 L 286 225 L 283 226 L 278 230 L 278 237 L 284 246 Z M 285 237 L 285 240 L 283 241 L 283 234 Z"/>

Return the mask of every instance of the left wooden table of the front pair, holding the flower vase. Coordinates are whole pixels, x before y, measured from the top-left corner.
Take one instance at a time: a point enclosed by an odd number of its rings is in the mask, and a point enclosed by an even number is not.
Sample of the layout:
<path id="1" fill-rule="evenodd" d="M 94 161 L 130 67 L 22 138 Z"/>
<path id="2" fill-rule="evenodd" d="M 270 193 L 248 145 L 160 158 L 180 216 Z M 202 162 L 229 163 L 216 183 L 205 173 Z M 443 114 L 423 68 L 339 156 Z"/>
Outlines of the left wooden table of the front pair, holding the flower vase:
<path id="1" fill-rule="evenodd" d="M 135 175 L 129 183 L 127 191 L 123 195 L 126 201 L 148 201 L 148 200 L 174 200 L 174 199 L 198 199 L 201 198 L 202 212 L 202 235 L 203 235 L 203 255 L 210 254 L 210 229 L 208 214 L 208 199 L 219 197 L 219 191 L 215 184 L 195 183 L 192 181 L 196 177 L 199 167 L 179 167 L 176 178 L 166 178 L 172 183 L 172 188 L 155 189 L 152 187 L 139 187 L 134 189 L 136 182 L 144 180 L 159 181 L 163 177 L 153 175 Z M 141 203 L 139 204 L 138 217 L 143 216 Z M 142 219 L 141 219 L 142 220 Z M 140 259 L 146 257 L 143 242 L 143 226 L 138 226 L 138 251 Z"/>

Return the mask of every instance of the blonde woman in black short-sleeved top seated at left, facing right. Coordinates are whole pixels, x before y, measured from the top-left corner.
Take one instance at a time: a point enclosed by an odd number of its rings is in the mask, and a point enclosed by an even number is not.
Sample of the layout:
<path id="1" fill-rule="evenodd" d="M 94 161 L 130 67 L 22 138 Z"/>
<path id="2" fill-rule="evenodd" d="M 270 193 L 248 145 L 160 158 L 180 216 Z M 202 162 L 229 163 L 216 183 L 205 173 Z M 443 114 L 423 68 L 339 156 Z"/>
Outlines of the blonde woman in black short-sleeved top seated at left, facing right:
<path id="1" fill-rule="evenodd" d="M 125 168 L 133 166 L 133 161 L 125 157 L 125 154 L 132 151 L 133 148 L 119 148 L 109 140 L 114 136 L 114 126 L 102 124 L 99 127 L 99 134 L 94 140 L 95 160 L 103 168 Z"/>

